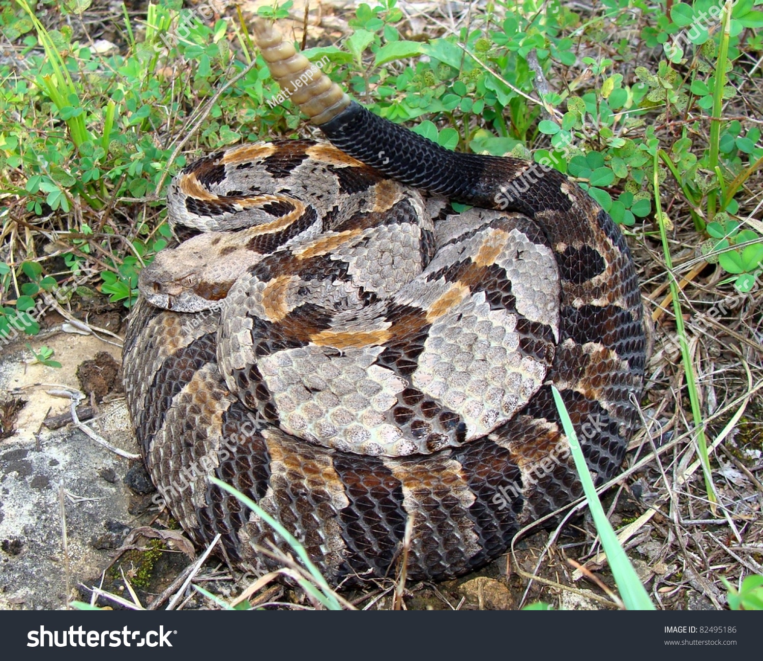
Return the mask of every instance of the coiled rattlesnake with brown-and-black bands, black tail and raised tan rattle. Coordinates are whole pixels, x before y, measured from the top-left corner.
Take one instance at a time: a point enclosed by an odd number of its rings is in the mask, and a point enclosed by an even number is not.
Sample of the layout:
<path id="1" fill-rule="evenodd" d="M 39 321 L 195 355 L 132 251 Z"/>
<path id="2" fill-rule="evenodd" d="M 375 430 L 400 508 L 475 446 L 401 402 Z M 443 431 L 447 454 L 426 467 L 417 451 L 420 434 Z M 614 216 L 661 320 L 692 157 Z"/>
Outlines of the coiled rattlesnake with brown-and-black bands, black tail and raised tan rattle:
<path id="1" fill-rule="evenodd" d="M 256 35 L 282 87 L 310 67 Z M 235 147 L 172 183 L 189 238 L 143 270 L 124 349 L 146 466 L 231 563 L 263 570 L 256 547 L 283 541 L 208 473 L 331 582 L 393 576 L 409 518 L 408 576 L 457 576 L 581 494 L 551 384 L 597 478 L 620 466 L 645 361 L 633 262 L 558 172 L 447 152 L 325 75 L 292 100 L 333 146 Z"/>

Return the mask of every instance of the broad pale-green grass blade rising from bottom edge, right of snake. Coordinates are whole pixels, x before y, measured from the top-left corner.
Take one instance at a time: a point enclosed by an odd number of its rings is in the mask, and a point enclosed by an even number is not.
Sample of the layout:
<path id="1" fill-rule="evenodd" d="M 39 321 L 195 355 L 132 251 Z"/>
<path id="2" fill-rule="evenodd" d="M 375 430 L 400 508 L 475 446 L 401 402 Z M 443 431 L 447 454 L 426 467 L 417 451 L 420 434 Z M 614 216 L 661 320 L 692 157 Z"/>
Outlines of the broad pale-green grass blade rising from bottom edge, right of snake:
<path id="1" fill-rule="evenodd" d="M 565 435 L 567 435 L 570 444 L 572 458 L 575 460 L 575 467 L 578 469 L 578 475 L 583 485 L 583 492 L 588 501 L 588 508 L 591 509 L 591 515 L 594 517 L 601 545 L 607 554 L 607 560 L 609 560 L 612 574 L 615 577 L 615 582 L 617 582 L 617 589 L 620 590 L 620 597 L 629 611 L 654 611 L 654 604 L 649 599 L 649 595 L 642 586 L 641 579 L 636 574 L 636 570 L 633 569 L 623 547 L 620 546 L 620 541 L 618 541 L 617 534 L 607 520 L 607 515 L 604 514 L 604 508 L 601 506 L 599 496 L 597 496 L 594 481 L 591 480 L 591 473 L 588 472 L 583 451 L 578 442 L 578 437 L 575 435 L 575 428 L 572 426 L 562 395 L 555 387 L 552 387 L 552 390 L 559 416 L 562 416 L 562 427 L 564 427 Z"/>

